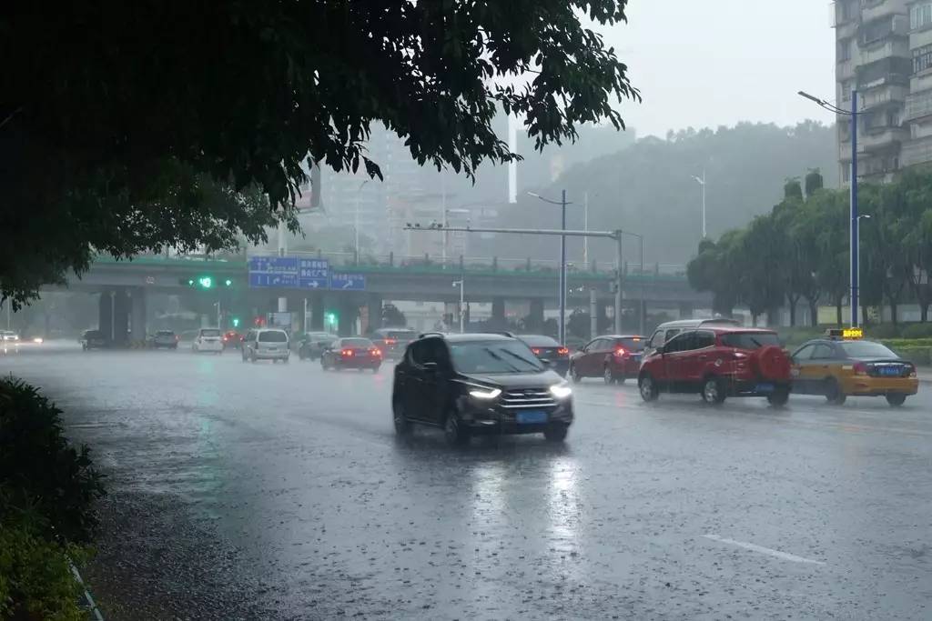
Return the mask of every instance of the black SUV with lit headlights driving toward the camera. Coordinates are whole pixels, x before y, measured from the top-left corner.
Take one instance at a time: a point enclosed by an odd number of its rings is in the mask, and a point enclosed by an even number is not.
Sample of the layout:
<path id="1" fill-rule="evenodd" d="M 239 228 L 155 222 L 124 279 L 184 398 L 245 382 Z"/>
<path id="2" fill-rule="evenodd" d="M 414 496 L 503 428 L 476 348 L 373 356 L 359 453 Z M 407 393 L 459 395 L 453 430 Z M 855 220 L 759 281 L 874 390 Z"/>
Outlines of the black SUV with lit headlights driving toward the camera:
<path id="1" fill-rule="evenodd" d="M 433 425 L 455 446 L 480 434 L 560 442 L 573 422 L 566 381 L 527 344 L 500 334 L 421 335 L 395 366 L 391 409 L 399 435 Z"/>

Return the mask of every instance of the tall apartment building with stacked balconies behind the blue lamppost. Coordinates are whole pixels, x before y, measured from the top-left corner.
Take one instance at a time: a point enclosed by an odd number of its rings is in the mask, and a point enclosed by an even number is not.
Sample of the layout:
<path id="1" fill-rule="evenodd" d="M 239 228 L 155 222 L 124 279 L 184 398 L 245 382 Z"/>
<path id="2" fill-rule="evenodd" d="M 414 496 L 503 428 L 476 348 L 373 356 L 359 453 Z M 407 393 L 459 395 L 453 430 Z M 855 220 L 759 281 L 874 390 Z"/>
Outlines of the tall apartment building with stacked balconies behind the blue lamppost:
<path id="1" fill-rule="evenodd" d="M 836 101 L 858 92 L 858 176 L 889 181 L 932 161 L 932 0 L 837 0 Z M 838 118 L 840 176 L 850 182 L 851 133 Z"/>

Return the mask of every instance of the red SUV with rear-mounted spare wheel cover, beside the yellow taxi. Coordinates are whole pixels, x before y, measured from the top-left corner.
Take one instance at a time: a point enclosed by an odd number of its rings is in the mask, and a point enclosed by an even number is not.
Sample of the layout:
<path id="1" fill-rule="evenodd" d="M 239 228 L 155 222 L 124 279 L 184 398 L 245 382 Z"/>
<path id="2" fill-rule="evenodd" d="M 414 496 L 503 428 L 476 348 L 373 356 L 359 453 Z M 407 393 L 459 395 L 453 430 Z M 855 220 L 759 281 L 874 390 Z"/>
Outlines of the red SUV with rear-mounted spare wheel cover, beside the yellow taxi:
<path id="1" fill-rule="evenodd" d="M 746 328 L 684 331 L 644 358 L 637 386 L 645 401 L 662 390 L 698 392 L 707 403 L 726 397 L 789 398 L 789 357 L 776 332 Z"/>

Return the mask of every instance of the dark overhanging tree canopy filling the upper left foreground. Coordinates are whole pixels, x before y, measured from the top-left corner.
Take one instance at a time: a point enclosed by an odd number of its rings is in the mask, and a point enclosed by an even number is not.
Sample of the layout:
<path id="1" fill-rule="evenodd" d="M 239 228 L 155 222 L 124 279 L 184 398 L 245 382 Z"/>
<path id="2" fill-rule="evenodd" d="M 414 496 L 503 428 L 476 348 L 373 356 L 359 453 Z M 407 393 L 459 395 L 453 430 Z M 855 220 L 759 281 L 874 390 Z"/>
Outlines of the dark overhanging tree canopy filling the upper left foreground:
<path id="1" fill-rule="evenodd" d="M 17 5 L 0 15 L 0 286 L 21 301 L 164 245 L 229 245 L 293 213 L 308 158 L 379 175 L 380 123 L 421 164 L 472 175 L 535 147 L 624 127 L 627 67 L 581 16 L 626 0 Z M 525 76 L 531 76 L 525 80 Z M 267 203 L 267 204 L 264 204 Z M 269 209 L 271 208 L 271 209 Z M 278 209 L 274 216 L 271 210 Z"/>

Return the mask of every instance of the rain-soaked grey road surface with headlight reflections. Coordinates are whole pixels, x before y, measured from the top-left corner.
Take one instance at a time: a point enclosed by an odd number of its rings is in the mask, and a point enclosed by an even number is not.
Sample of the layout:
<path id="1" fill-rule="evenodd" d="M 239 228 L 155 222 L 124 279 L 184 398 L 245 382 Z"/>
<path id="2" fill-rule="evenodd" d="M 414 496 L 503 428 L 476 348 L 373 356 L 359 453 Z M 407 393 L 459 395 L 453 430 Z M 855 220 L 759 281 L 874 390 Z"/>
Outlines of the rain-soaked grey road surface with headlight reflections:
<path id="1" fill-rule="evenodd" d="M 456 451 L 395 439 L 391 368 L 45 346 L 0 372 L 108 475 L 108 618 L 932 618 L 932 385 L 780 410 L 589 380 L 565 445 Z"/>

